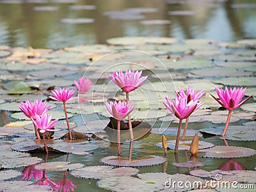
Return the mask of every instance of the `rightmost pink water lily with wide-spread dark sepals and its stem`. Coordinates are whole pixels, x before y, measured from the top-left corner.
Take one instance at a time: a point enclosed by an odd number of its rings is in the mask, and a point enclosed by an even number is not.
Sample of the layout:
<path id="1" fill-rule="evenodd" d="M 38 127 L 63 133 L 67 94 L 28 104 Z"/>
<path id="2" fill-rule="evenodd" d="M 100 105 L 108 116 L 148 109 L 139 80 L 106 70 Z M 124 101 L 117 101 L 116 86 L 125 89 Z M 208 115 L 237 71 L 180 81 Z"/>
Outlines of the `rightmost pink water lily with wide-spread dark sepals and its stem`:
<path id="1" fill-rule="evenodd" d="M 230 121 L 232 110 L 243 105 L 246 101 L 248 101 L 250 98 L 252 98 L 252 95 L 249 96 L 248 98 L 246 98 L 245 100 L 241 101 L 244 96 L 244 92 L 246 91 L 246 88 L 243 89 L 243 87 L 241 87 L 241 88 L 234 87 L 233 89 L 232 88 L 228 89 L 228 87 L 225 86 L 225 91 L 221 88 L 219 88 L 219 89 L 215 88 L 215 90 L 216 90 L 220 100 L 218 100 L 215 96 L 213 96 L 211 94 L 212 98 L 214 98 L 214 100 L 216 100 L 218 103 L 220 103 L 220 105 L 222 107 L 228 109 L 227 122 L 225 124 L 225 128 L 223 129 L 223 133 L 221 135 L 221 137 L 225 137 L 225 135 L 227 133 L 228 124 Z"/>

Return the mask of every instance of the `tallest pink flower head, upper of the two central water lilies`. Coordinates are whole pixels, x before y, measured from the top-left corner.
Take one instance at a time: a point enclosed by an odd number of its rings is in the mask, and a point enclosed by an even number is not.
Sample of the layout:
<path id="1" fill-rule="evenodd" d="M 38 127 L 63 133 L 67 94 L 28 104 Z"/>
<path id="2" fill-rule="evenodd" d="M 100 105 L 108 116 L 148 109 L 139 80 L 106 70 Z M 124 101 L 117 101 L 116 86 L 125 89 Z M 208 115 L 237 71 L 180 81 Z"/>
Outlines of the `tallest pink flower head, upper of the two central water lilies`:
<path id="1" fill-rule="evenodd" d="M 119 70 L 118 72 L 113 72 L 113 76 L 109 75 L 109 77 L 124 92 L 131 92 L 140 87 L 140 85 L 147 79 L 147 76 L 141 77 L 141 74 L 142 71 L 125 70 L 124 74 Z"/>

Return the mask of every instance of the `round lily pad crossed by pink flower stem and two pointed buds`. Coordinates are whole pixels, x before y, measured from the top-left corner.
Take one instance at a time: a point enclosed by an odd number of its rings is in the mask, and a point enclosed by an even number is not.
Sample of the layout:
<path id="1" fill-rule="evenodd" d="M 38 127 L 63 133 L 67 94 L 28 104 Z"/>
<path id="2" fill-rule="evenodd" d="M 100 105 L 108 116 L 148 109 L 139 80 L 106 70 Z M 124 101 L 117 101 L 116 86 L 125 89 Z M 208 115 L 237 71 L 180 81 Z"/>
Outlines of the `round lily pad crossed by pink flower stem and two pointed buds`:
<path id="1" fill-rule="evenodd" d="M 167 144 L 168 144 L 168 148 L 169 149 L 175 149 L 175 142 L 176 140 L 168 140 Z M 186 150 L 189 148 L 190 144 L 191 144 L 192 140 L 184 140 L 184 141 L 179 141 L 179 150 Z M 162 142 L 159 142 L 156 144 L 157 147 L 162 148 Z M 210 147 L 214 147 L 214 144 L 210 143 L 210 142 L 204 142 L 204 141 L 199 141 L 198 143 L 198 149 L 207 149 Z"/>

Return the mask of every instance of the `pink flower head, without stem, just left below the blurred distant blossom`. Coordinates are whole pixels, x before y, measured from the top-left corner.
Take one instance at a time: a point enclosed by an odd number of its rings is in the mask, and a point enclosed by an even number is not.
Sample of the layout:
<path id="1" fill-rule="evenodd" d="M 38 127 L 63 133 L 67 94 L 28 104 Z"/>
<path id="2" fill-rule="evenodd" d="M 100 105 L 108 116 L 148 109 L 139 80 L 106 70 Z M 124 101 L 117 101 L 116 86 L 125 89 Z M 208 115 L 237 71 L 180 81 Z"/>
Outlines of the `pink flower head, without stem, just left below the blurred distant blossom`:
<path id="1" fill-rule="evenodd" d="M 63 103 L 67 102 L 68 100 L 70 100 L 70 98 L 72 97 L 72 95 L 74 94 L 74 92 L 76 92 L 75 89 L 71 89 L 69 90 L 68 88 L 65 89 L 54 89 L 52 91 L 52 96 L 49 96 L 49 98 L 51 98 L 52 100 L 56 100 L 56 101 L 62 101 Z"/>

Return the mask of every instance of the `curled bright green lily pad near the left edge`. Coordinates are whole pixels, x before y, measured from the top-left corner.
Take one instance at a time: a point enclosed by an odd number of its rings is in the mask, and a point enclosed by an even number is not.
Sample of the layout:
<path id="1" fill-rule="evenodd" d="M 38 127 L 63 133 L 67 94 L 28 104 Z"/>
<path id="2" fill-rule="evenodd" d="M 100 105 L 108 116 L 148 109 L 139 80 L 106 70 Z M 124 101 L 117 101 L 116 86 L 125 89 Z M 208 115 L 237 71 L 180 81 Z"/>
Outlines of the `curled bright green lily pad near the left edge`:
<path id="1" fill-rule="evenodd" d="M 10 81 L 3 85 L 4 89 L 7 89 L 10 94 L 20 94 L 26 92 L 35 92 L 26 83 L 18 80 Z"/>

